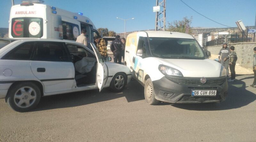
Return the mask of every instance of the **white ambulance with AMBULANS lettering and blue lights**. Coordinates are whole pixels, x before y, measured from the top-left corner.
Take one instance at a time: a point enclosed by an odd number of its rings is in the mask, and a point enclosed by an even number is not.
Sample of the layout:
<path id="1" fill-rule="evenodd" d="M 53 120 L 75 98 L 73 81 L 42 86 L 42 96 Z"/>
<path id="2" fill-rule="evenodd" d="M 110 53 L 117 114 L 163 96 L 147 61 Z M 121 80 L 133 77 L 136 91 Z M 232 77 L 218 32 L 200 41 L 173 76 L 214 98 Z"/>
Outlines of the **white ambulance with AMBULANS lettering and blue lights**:
<path id="1" fill-rule="evenodd" d="M 43 4 L 42 0 L 22 1 L 11 8 L 9 20 L 10 38 L 44 38 L 75 41 L 86 29 L 88 42 L 100 34 L 83 13 L 74 13 Z M 90 45 L 90 44 L 88 44 Z"/>

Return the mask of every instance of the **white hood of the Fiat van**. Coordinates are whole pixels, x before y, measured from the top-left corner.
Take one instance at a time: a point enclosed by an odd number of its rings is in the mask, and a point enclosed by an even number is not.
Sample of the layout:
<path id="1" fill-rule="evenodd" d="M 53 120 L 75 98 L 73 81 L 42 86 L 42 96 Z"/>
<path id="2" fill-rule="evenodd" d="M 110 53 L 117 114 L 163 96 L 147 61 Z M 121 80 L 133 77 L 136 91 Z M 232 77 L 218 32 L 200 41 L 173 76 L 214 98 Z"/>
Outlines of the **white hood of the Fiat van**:
<path id="1" fill-rule="evenodd" d="M 220 77 L 221 64 L 211 59 L 156 59 L 181 71 L 184 77 Z"/>

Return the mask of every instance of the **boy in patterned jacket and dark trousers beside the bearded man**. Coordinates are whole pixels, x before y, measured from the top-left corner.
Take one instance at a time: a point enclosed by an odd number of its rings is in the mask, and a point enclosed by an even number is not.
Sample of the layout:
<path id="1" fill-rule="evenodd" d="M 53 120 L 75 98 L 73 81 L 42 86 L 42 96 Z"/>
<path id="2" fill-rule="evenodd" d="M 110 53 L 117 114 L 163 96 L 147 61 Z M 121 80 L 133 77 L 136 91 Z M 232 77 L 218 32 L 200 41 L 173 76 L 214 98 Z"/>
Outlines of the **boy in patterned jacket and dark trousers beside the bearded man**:
<path id="1" fill-rule="evenodd" d="M 228 64 L 229 64 L 229 69 L 230 69 L 230 73 L 231 73 L 231 78 L 228 79 L 228 82 L 235 81 L 235 79 L 236 79 L 235 67 L 236 67 L 237 54 L 234 50 L 235 50 L 235 47 L 231 46 L 230 47 L 230 53 L 228 55 L 228 57 L 229 57 L 229 63 Z"/>

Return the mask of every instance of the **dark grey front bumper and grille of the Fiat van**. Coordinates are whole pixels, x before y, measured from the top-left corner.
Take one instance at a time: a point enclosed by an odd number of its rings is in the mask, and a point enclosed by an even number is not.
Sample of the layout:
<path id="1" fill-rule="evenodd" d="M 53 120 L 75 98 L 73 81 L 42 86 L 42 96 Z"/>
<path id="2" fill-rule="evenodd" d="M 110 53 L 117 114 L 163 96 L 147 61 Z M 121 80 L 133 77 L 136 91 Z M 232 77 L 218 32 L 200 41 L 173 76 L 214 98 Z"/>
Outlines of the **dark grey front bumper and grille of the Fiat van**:
<path id="1" fill-rule="evenodd" d="M 159 80 L 152 81 L 155 98 L 156 100 L 169 103 L 208 103 L 225 101 L 228 95 L 227 78 L 206 79 L 208 84 L 206 81 L 204 85 L 198 83 L 200 78 L 163 77 Z M 191 96 L 192 90 L 217 90 L 217 94 L 216 96 Z"/>

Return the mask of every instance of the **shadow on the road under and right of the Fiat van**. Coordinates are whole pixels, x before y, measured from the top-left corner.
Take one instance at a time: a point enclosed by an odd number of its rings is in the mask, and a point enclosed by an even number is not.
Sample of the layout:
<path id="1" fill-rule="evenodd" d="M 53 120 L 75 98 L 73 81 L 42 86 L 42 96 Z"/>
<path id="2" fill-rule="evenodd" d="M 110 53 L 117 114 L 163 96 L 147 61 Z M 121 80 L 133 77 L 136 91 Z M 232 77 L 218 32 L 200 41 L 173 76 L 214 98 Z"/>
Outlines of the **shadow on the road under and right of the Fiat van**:
<path id="1" fill-rule="evenodd" d="M 256 100 L 255 93 L 246 90 L 245 88 L 247 86 L 242 80 L 244 80 L 244 78 L 236 80 L 234 82 L 228 82 L 228 97 L 226 98 L 226 101 L 223 101 L 221 103 L 173 104 L 172 106 L 176 108 L 198 111 L 241 108 Z"/>

